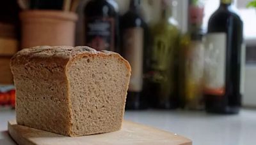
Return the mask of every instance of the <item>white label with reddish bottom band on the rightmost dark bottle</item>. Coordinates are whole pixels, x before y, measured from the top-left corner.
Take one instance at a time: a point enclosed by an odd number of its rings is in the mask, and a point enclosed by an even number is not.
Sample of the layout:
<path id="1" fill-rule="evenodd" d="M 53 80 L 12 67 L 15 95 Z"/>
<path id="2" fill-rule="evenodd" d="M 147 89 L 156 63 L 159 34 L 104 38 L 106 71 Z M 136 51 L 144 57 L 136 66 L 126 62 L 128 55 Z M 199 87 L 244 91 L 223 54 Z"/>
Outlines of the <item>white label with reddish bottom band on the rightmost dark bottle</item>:
<path id="1" fill-rule="evenodd" d="M 227 34 L 214 32 L 205 37 L 204 93 L 224 95 Z"/>

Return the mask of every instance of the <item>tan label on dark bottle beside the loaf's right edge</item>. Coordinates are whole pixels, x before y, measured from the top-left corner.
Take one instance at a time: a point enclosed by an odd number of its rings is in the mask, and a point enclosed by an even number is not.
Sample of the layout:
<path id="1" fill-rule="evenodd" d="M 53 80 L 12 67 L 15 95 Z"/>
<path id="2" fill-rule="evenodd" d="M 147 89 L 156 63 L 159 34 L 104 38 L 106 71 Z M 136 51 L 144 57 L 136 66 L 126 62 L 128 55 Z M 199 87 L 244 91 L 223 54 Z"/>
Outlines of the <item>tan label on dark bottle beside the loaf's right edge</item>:
<path id="1" fill-rule="evenodd" d="M 143 29 L 141 27 L 126 29 L 123 34 L 124 58 L 132 68 L 129 91 L 142 90 L 143 76 Z"/>

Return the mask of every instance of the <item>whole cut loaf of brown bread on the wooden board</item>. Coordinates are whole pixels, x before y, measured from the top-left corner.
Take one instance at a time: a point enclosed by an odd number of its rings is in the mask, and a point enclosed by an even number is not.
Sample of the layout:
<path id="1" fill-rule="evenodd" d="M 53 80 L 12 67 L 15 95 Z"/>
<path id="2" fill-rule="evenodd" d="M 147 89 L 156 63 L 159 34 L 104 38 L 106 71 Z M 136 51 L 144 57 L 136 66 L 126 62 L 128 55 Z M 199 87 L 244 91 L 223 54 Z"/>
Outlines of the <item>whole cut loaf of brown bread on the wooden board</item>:
<path id="1" fill-rule="evenodd" d="M 19 125 L 79 136 L 120 130 L 131 67 L 118 53 L 37 46 L 11 60 Z"/>

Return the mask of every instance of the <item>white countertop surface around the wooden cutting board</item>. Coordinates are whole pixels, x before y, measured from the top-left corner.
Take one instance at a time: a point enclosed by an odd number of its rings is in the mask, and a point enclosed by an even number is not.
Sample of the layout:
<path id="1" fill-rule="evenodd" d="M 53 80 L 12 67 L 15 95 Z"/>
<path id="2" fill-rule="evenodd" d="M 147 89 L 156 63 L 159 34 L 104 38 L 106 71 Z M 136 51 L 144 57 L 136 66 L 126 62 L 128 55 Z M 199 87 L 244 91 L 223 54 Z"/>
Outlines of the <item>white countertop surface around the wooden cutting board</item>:
<path id="1" fill-rule="evenodd" d="M 15 144 L 8 136 L 7 121 L 15 111 L 0 110 L 0 144 Z M 256 109 L 242 109 L 238 115 L 206 114 L 204 111 L 126 111 L 125 120 L 177 133 L 195 145 L 256 144 Z"/>

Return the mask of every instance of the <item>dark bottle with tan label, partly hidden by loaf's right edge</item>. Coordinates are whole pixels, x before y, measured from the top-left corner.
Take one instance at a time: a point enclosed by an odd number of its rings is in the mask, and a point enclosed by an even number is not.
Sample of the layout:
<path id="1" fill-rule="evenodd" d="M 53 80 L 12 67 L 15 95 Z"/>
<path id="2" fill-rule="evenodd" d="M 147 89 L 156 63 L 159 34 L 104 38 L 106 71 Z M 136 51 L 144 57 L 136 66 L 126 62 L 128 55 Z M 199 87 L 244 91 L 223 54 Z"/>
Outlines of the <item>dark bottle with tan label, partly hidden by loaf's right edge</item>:
<path id="1" fill-rule="evenodd" d="M 121 18 L 122 55 L 132 68 L 125 109 L 145 109 L 147 100 L 143 89 L 143 49 L 145 48 L 145 22 L 141 18 L 140 0 L 131 0 L 130 8 Z"/>

